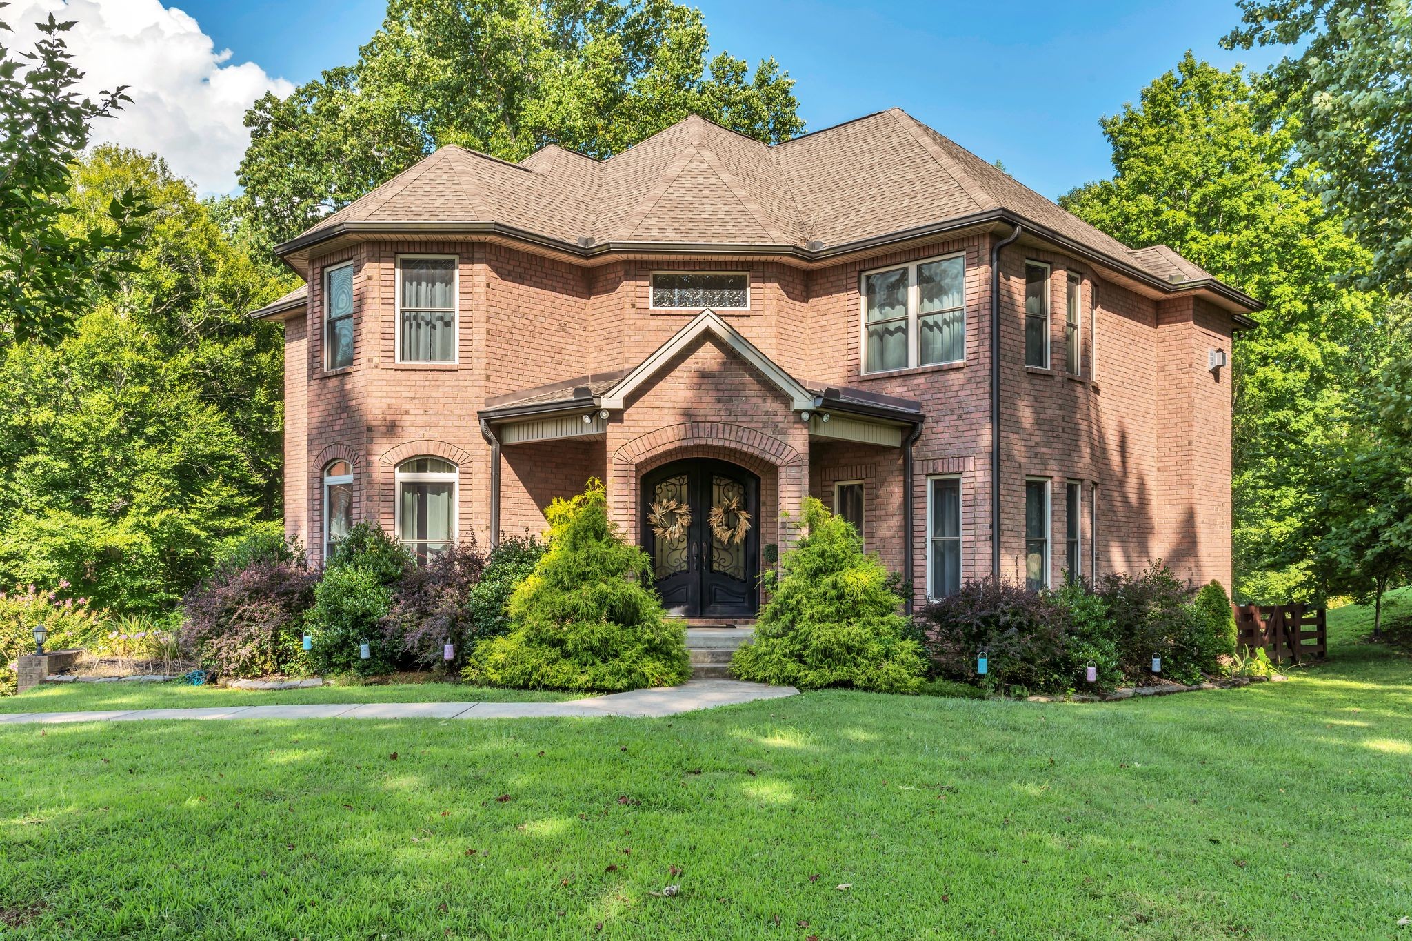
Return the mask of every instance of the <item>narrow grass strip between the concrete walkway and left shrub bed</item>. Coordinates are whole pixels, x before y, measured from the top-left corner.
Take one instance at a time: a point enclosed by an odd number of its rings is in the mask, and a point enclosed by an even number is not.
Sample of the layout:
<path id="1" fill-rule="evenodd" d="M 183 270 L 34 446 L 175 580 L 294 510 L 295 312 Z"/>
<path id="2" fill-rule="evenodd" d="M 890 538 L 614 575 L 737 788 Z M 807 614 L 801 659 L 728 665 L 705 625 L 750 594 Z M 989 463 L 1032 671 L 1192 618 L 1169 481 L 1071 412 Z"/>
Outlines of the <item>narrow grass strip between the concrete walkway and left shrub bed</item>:
<path id="1" fill-rule="evenodd" d="M 308 690 L 229 690 L 189 683 L 45 683 L 0 698 L 4 712 L 82 710 L 171 710 L 203 705 L 291 705 L 295 703 L 558 703 L 586 693 L 494 690 L 463 683 L 316 686 Z"/>

